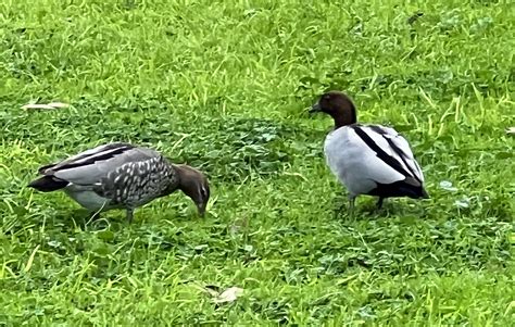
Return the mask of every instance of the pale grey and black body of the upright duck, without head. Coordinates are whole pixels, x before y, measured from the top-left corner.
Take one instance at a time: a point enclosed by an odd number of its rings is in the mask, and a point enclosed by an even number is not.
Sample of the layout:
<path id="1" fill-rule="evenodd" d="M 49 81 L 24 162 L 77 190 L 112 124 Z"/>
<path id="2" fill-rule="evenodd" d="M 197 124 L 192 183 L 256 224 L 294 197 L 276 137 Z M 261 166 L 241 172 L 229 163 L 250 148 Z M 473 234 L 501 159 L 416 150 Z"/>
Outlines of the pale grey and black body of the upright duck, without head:
<path id="1" fill-rule="evenodd" d="M 335 172 L 339 169 L 337 174 L 352 193 L 427 197 L 424 176 L 410 144 L 393 128 L 354 124 L 340 129 L 336 138 L 339 142 L 331 149 L 334 162 L 338 162 L 332 167 Z"/>

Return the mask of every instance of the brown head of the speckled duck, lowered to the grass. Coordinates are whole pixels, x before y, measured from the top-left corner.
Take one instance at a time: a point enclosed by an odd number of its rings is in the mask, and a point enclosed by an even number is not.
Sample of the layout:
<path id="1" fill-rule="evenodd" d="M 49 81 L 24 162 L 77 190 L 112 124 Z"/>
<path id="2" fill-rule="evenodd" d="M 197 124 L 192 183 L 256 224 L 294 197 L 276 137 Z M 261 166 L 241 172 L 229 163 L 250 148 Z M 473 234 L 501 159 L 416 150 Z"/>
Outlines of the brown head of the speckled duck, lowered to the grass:
<path id="1" fill-rule="evenodd" d="M 188 165 L 177 165 L 176 168 L 179 173 L 179 189 L 193 200 L 199 214 L 203 216 L 210 200 L 208 178 L 201 172 Z"/>

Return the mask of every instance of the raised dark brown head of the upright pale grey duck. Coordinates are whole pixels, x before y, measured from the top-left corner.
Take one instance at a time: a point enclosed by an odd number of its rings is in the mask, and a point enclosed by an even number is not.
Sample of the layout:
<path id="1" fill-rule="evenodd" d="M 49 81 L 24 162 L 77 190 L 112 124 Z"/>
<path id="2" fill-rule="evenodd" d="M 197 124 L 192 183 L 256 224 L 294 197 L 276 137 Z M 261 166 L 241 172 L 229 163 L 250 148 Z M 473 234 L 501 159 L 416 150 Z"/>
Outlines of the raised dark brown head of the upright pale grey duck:
<path id="1" fill-rule="evenodd" d="M 356 109 L 351 98 L 340 91 L 329 91 L 321 96 L 310 109 L 310 113 L 323 112 L 332 117 L 335 129 L 356 123 Z"/>

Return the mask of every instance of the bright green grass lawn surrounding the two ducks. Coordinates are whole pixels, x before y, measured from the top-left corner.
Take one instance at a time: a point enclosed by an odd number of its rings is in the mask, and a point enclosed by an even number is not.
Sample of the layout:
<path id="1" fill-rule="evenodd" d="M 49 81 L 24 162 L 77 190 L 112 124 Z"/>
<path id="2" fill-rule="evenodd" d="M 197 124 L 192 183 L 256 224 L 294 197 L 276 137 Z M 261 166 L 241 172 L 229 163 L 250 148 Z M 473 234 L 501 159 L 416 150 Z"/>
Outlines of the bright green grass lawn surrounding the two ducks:
<path id="1" fill-rule="evenodd" d="M 513 324 L 513 5 L 313 2 L 0 3 L 0 325 Z M 304 112 L 327 89 L 406 136 L 430 200 L 336 212 Z M 26 188 L 111 140 L 202 168 L 209 214 L 176 193 L 87 224 Z"/>

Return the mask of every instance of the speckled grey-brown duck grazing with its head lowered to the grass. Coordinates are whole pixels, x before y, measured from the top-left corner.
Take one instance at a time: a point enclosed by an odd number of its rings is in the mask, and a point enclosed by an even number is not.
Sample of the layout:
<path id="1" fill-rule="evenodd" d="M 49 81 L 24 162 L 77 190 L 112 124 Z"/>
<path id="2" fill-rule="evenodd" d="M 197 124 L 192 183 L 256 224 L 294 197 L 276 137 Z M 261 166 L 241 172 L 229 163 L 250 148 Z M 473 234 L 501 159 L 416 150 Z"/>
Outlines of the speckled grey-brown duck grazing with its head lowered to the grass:
<path id="1" fill-rule="evenodd" d="M 42 166 L 39 174 L 43 177 L 28 187 L 42 192 L 64 190 L 97 213 L 125 209 L 129 223 L 136 207 L 177 189 L 193 200 L 201 216 L 210 198 L 209 183 L 201 172 L 173 164 L 154 150 L 123 142 L 99 146 Z"/>

